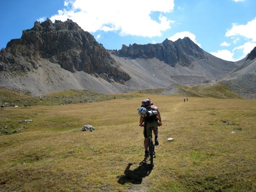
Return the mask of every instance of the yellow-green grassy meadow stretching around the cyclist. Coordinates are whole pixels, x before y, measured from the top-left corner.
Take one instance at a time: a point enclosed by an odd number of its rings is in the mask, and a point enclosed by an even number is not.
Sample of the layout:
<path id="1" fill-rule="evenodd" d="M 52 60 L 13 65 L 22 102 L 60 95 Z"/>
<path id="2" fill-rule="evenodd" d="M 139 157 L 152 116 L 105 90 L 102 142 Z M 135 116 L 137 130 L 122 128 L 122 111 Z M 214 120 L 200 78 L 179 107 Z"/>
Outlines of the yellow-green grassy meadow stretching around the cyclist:
<path id="1" fill-rule="evenodd" d="M 141 96 L 141 97 L 139 97 Z M 143 161 L 137 108 L 163 126 L 154 169 Z M 18 123 L 21 119 L 32 122 Z M 83 132 L 85 124 L 96 130 Z M 137 95 L 87 104 L 4 108 L 0 191 L 255 191 L 256 104 L 250 99 Z M 15 127 L 18 128 L 18 127 Z M 173 142 L 166 140 L 172 137 Z"/>

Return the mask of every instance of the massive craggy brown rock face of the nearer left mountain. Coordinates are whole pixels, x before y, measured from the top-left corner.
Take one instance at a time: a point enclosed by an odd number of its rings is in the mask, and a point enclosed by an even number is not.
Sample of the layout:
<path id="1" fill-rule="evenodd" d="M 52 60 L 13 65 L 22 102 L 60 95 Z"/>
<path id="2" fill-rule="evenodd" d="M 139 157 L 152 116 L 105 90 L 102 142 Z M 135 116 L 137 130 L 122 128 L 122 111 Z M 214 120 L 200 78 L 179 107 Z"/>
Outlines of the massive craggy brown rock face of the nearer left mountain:
<path id="1" fill-rule="evenodd" d="M 0 71 L 29 71 L 38 68 L 39 58 L 58 63 L 71 72 L 84 71 L 107 81 L 124 83 L 130 76 L 119 69 L 116 61 L 89 32 L 67 20 L 47 19 L 35 22 L 32 29 L 24 30 L 20 39 L 11 40 L 0 51 Z"/>

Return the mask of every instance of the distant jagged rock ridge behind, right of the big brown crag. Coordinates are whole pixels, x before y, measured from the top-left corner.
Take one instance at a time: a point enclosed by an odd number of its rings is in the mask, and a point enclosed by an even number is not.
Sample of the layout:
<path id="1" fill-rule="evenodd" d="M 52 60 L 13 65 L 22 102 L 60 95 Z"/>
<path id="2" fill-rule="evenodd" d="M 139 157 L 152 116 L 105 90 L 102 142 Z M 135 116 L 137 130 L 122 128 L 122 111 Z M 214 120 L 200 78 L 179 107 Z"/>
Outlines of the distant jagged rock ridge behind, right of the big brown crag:
<path id="1" fill-rule="evenodd" d="M 127 47 L 122 45 L 122 49 L 114 52 L 120 57 L 129 58 L 158 58 L 160 61 L 175 66 L 179 62 L 181 66 L 189 66 L 193 58 L 207 59 L 203 49 L 198 47 L 188 37 L 178 39 L 177 41 L 169 41 L 166 39 L 161 44 L 133 44 Z"/>

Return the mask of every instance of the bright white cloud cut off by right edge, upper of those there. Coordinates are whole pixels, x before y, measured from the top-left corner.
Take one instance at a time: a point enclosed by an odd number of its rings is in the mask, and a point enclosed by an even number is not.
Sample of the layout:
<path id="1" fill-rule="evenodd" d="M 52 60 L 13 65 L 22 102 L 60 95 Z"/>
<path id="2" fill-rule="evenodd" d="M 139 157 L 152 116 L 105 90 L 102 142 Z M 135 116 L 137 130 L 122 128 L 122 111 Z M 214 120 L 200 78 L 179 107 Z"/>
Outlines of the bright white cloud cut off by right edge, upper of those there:
<path id="1" fill-rule="evenodd" d="M 256 41 L 256 17 L 252 21 L 247 22 L 246 25 L 237 25 L 236 23 L 233 23 L 232 28 L 226 32 L 227 37 L 238 35 Z"/>

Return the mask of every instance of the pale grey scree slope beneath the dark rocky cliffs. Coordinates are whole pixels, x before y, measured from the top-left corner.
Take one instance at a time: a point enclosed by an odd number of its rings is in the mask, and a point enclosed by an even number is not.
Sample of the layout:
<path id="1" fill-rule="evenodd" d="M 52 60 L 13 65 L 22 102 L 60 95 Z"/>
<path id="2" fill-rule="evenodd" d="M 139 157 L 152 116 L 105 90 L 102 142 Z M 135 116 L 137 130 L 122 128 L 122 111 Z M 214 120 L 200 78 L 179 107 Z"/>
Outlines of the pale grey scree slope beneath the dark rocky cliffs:
<path id="1" fill-rule="evenodd" d="M 110 52 L 111 53 L 111 52 Z M 195 60 L 189 67 L 177 64 L 175 67 L 152 59 L 129 59 L 111 54 L 121 68 L 131 76 L 125 84 L 109 83 L 83 71 L 71 73 L 59 64 L 41 59 L 41 66 L 27 73 L 0 72 L 0 86 L 39 96 L 58 90 L 88 89 L 100 93 L 125 93 L 149 88 L 168 87 L 172 84 L 195 85 L 215 81 L 236 68 L 230 61 L 224 61 L 205 52 L 207 60 Z"/>

